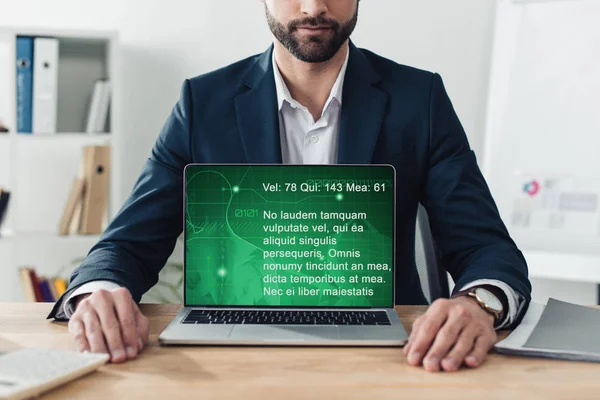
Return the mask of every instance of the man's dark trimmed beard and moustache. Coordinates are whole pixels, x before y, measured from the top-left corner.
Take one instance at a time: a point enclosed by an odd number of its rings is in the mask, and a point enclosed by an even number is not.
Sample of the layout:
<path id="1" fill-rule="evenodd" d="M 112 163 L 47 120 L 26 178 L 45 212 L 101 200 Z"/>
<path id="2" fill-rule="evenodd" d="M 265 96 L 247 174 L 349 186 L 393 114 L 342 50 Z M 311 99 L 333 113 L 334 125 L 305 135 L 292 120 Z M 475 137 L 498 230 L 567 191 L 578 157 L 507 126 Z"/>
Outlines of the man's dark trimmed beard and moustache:
<path id="1" fill-rule="evenodd" d="M 323 16 L 318 16 L 292 21 L 286 28 L 275 19 L 266 5 L 265 13 L 267 15 L 269 28 L 271 28 L 271 32 L 273 32 L 275 38 L 281 42 L 294 57 L 308 63 L 322 63 L 331 60 L 346 40 L 348 40 L 352 32 L 354 32 L 354 28 L 356 28 L 356 23 L 358 22 L 358 6 L 356 7 L 354 16 L 344 24 L 340 24 L 335 20 Z M 300 42 L 298 38 L 294 36 L 294 32 L 297 30 L 298 26 L 306 25 L 328 26 L 332 29 L 333 36 L 329 39 L 322 39 L 316 36 L 309 37 L 307 41 Z"/>

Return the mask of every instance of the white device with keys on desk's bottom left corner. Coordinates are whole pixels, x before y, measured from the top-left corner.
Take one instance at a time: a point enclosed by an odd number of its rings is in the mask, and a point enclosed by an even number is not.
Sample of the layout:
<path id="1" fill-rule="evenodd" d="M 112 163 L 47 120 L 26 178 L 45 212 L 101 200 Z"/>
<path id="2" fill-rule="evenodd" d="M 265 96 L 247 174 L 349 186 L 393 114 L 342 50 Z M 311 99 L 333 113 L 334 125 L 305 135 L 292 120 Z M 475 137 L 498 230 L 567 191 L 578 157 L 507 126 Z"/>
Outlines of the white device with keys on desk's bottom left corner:
<path id="1" fill-rule="evenodd" d="M 92 372 L 107 354 L 22 349 L 0 355 L 0 399 L 26 399 Z"/>

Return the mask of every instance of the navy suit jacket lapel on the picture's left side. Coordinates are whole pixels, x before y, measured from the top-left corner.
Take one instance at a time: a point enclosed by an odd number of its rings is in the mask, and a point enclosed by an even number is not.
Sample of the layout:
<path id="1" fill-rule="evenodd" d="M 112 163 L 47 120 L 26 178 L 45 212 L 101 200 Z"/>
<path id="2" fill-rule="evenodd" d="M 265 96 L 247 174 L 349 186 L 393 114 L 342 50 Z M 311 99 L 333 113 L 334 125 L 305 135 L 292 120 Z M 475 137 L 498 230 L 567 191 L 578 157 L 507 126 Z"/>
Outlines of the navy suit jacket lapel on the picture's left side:
<path id="1" fill-rule="evenodd" d="M 250 163 L 282 162 L 272 54 L 271 46 L 259 56 L 242 79 L 250 90 L 235 98 L 238 129 Z"/>

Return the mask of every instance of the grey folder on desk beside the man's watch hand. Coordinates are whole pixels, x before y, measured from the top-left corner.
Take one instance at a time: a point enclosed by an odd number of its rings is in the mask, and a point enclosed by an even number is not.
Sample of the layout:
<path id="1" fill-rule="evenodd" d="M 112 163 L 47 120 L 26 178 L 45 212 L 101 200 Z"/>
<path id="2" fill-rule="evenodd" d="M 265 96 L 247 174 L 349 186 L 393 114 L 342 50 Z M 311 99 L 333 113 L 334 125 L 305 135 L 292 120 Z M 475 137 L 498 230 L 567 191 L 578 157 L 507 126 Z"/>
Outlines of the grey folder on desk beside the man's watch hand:
<path id="1" fill-rule="evenodd" d="M 531 303 L 521 324 L 496 346 L 498 353 L 600 362 L 600 309 L 550 299 Z"/>

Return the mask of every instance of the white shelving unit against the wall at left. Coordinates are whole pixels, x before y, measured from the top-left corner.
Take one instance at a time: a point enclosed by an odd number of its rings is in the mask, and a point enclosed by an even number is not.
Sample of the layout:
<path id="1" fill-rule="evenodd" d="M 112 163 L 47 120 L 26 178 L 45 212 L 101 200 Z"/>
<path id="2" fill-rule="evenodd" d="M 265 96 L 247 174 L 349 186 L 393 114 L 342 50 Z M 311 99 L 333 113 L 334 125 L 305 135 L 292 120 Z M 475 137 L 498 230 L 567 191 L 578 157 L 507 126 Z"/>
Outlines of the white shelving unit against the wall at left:
<path id="1" fill-rule="evenodd" d="M 17 36 L 54 37 L 60 41 L 55 134 L 15 132 Z M 32 266 L 42 275 L 54 275 L 64 265 L 84 257 L 98 241 L 98 235 L 57 235 L 84 146 L 111 146 L 107 217 L 112 218 L 121 205 L 118 65 L 115 32 L 0 29 L 0 119 L 10 130 L 0 133 L 0 186 L 11 192 L 0 232 L 0 301 L 24 299 L 18 267 Z M 100 78 L 111 82 L 108 132 L 84 133 L 94 81 Z"/>

